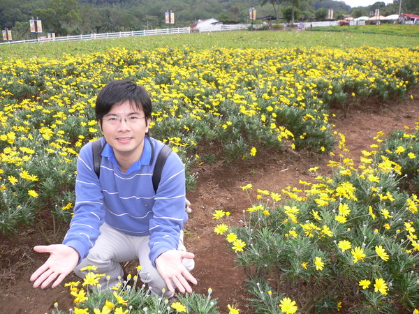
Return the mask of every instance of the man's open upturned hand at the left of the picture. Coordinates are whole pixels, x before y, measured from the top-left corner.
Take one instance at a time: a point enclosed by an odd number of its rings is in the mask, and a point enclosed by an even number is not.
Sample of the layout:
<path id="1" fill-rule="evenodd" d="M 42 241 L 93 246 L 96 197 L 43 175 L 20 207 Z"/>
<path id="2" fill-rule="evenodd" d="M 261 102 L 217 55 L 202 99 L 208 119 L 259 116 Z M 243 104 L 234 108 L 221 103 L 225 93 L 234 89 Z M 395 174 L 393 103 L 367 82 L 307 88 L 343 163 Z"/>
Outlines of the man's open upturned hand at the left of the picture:
<path id="1" fill-rule="evenodd" d="M 68 274 L 73 271 L 79 260 L 79 253 L 74 248 L 65 244 L 53 244 L 50 246 L 35 246 L 38 253 L 50 253 L 47 261 L 39 267 L 31 276 L 34 287 L 45 288 L 52 281 L 52 287 L 57 287 Z"/>

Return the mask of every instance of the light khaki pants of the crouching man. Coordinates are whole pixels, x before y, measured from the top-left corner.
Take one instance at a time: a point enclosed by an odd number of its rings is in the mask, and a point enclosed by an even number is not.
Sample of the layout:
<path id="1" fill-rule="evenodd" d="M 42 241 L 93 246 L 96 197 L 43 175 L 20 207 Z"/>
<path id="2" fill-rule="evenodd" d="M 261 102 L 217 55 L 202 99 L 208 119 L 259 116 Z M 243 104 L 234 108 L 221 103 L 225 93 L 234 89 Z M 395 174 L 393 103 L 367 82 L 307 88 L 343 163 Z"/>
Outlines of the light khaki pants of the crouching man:
<path id="1" fill-rule="evenodd" d="M 139 260 L 140 266 L 140 279 L 143 283 L 147 283 L 152 290 L 152 294 L 159 294 L 162 297 L 172 297 L 172 292 L 168 290 L 166 283 L 161 278 L 156 267 L 152 265 L 149 259 L 149 236 L 134 237 L 114 228 L 110 225 L 103 223 L 100 228 L 101 234 L 96 240 L 96 244 L 90 249 L 89 255 L 75 267 L 74 272 L 80 278 L 84 278 L 87 271 L 80 271 L 83 267 L 96 266 L 98 269 L 94 271 L 96 274 L 106 274 L 110 276 L 108 281 L 106 276 L 100 278 L 99 283 L 103 290 L 110 289 L 120 282 L 118 277 L 123 278 L 124 270 L 120 262 L 128 262 L 131 260 Z M 183 244 L 183 231 L 180 234 L 179 251 L 186 251 Z M 184 266 L 188 271 L 191 271 L 195 266 L 192 259 L 184 259 Z M 123 280 L 123 279 L 122 279 Z M 163 294 L 163 288 L 166 292 Z"/>

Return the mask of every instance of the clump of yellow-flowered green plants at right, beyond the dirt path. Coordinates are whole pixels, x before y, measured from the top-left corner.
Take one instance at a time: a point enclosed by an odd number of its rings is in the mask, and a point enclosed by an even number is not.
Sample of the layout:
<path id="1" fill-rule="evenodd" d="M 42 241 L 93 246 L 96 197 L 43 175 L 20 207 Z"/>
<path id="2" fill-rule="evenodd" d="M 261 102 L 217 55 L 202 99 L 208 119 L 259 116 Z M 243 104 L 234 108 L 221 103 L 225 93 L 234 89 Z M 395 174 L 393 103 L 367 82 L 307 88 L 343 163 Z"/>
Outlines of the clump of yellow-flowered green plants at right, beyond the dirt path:
<path id="1" fill-rule="evenodd" d="M 284 296 L 302 313 L 413 311 L 419 199 L 402 189 L 402 174 L 417 174 L 417 145 L 417 132 L 398 131 L 358 170 L 331 163 L 332 177 L 286 188 L 282 202 L 260 190 L 265 201 L 247 210 L 244 226 L 226 231 L 245 243 L 240 252 L 233 242 L 233 250 L 256 313 L 277 313 Z"/>

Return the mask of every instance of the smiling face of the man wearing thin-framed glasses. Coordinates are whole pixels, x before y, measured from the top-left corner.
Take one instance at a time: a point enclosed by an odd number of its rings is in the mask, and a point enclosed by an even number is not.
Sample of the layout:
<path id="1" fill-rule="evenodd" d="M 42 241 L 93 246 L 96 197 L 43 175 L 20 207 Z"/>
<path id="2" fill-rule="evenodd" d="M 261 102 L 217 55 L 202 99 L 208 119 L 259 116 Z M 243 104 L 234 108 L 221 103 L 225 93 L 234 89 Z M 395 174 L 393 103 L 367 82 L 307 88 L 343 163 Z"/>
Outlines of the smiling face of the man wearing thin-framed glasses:
<path id="1" fill-rule="evenodd" d="M 114 105 L 103 120 L 99 121 L 103 136 L 112 146 L 119 163 L 134 163 L 140 159 L 149 124 L 144 112 L 131 106 L 128 100 Z"/>

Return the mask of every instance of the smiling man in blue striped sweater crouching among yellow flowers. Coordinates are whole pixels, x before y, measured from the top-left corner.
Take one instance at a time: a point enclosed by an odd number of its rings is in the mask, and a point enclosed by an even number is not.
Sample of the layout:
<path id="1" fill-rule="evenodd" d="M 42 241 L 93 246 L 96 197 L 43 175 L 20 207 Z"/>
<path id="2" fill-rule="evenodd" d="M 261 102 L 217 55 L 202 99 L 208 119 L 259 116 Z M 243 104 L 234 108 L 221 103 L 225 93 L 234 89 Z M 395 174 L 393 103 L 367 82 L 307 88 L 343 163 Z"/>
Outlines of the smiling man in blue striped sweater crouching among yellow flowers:
<path id="1" fill-rule="evenodd" d="M 108 83 L 96 100 L 96 120 L 105 145 L 100 176 L 94 171 L 91 142 L 80 150 L 75 208 L 63 244 L 35 246 L 50 257 L 31 276 L 34 287 L 56 287 L 75 271 L 94 265 L 102 287 L 122 278 L 119 264 L 138 258 L 140 278 L 154 294 L 172 297 L 175 289 L 192 292 L 189 271 L 193 253 L 183 245 L 184 165 L 173 151 L 166 160 L 156 192 L 152 174 L 163 143 L 148 136 L 152 101 L 133 82 Z M 166 290 L 166 292 L 165 292 Z M 164 293 L 163 293 L 164 292 Z"/>

